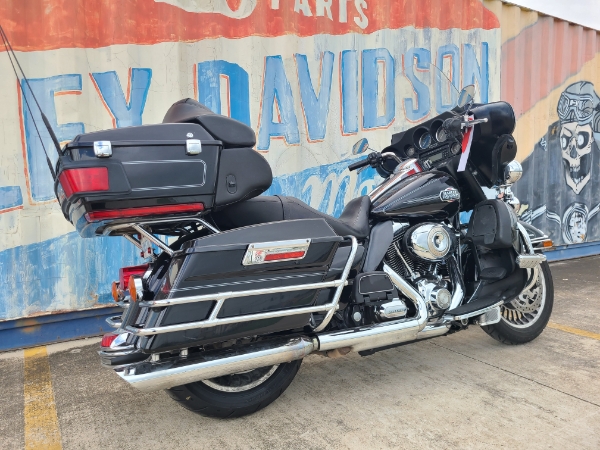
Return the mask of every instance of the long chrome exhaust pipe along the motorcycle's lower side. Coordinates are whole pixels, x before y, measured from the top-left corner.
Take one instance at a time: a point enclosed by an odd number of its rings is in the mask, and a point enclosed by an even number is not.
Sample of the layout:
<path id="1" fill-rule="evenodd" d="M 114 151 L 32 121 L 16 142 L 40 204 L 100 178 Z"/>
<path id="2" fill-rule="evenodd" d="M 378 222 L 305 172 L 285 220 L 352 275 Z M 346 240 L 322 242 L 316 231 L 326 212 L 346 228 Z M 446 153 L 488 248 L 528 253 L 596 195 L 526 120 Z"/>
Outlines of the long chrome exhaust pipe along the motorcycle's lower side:
<path id="1" fill-rule="evenodd" d="M 190 354 L 187 358 L 144 361 L 119 368 L 117 373 L 133 387 L 151 392 L 259 367 L 288 363 L 317 351 L 327 352 L 342 348 L 353 351 L 371 350 L 416 341 L 421 337 L 445 334 L 448 331 L 447 326 L 425 327 L 428 315 L 423 298 L 393 271 L 390 270 L 388 274 L 396 287 L 415 302 L 418 307 L 416 318 L 322 333 L 315 337 L 302 336 L 255 342 L 240 348 L 202 352 L 197 357 Z M 423 336 L 420 336 L 421 334 Z"/>

